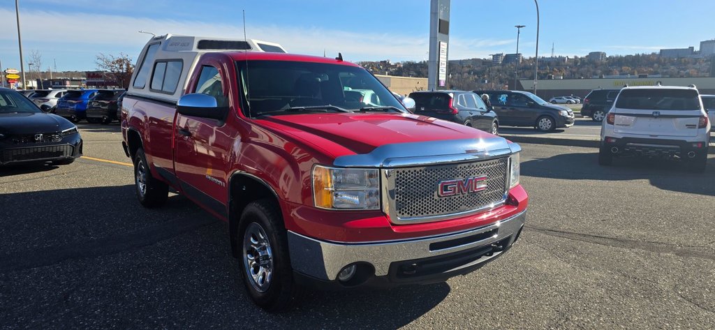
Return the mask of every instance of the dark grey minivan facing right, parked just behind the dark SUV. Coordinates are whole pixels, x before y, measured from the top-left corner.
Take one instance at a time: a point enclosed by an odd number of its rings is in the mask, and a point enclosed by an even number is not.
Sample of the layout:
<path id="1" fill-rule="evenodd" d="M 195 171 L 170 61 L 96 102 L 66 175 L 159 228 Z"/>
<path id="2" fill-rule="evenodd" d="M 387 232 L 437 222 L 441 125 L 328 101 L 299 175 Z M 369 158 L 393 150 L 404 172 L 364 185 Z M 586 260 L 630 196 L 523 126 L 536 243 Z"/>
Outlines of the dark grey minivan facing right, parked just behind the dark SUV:
<path id="1" fill-rule="evenodd" d="M 531 126 L 538 131 L 573 126 L 573 111 L 549 104 L 528 91 L 474 91 L 488 94 L 501 126 Z"/>

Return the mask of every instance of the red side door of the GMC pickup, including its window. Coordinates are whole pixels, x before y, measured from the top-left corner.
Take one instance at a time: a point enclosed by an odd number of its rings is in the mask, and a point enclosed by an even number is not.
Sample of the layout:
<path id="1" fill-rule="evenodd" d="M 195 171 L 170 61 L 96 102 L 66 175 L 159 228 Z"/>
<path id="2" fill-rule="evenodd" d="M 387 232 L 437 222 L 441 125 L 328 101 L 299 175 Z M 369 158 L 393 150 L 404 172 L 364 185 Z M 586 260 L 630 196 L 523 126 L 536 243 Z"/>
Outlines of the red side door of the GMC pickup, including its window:
<path id="1" fill-rule="evenodd" d="M 227 105 L 227 73 L 221 67 L 210 61 L 197 66 L 199 78 L 187 90 L 214 96 L 220 106 Z M 226 216 L 226 164 L 232 135 L 225 121 L 177 114 L 174 166 L 182 191 L 220 216 Z"/>

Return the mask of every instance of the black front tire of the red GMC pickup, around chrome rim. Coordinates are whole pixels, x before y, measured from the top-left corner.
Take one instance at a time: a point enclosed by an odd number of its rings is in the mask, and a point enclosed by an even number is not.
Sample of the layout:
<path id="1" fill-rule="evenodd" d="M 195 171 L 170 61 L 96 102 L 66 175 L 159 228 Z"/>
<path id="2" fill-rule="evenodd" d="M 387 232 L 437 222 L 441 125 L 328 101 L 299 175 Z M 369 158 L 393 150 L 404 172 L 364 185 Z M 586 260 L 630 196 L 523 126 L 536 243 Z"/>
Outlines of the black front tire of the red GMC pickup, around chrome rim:
<path id="1" fill-rule="evenodd" d="M 269 258 L 250 264 L 248 254 L 255 256 L 257 251 L 251 247 L 252 243 L 247 243 L 245 234 L 249 233 L 251 238 L 255 237 L 251 236 L 251 233 L 255 233 L 256 226 L 265 233 L 264 238 L 267 239 L 265 242 L 269 244 L 271 253 Z M 248 204 L 241 214 L 236 234 L 237 255 L 240 259 L 237 262 L 237 266 L 240 267 L 238 272 L 241 274 L 240 279 L 248 296 L 257 306 L 266 311 L 278 312 L 290 309 L 305 289 L 293 280 L 290 254 L 288 254 L 287 231 L 280 215 L 280 206 L 271 199 L 260 199 Z M 248 242 L 251 241 L 250 239 Z M 261 244 L 256 245 L 262 246 Z M 265 271 L 262 267 L 267 265 L 264 263 L 270 263 L 272 276 L 267 282 L 267 286 L 262 287 L 259 281 L 254 280 L 250 271 L 258 273 L 257 267 L 261 267 L 260 269 Z M 260 275 L 258 278 L 260 279 Z M 265 281 L 263 285 L 266 285 Z"/>

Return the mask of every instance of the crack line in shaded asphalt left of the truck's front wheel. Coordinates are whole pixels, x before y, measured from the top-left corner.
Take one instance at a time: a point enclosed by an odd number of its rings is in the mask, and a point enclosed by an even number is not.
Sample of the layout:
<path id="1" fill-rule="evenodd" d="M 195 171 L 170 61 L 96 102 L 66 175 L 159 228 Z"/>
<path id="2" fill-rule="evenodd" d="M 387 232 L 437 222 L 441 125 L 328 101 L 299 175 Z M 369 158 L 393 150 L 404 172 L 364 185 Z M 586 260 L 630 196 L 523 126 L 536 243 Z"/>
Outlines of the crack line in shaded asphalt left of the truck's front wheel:
<path id="1" fill-rule="evenodd" d="M 46 246 L 30 251 L 0 254 L 0 261 L 2 261 L 0 262 L 0 274 L 51 266 L 71 259 L 94 258 L 141 249 L 144 246 L 172 239 L 218 221 L 206 214 L 202 214 L 199 219 L 197 216 L 186 216 L 125 234 L 87 239 L 61 246 Z"/>

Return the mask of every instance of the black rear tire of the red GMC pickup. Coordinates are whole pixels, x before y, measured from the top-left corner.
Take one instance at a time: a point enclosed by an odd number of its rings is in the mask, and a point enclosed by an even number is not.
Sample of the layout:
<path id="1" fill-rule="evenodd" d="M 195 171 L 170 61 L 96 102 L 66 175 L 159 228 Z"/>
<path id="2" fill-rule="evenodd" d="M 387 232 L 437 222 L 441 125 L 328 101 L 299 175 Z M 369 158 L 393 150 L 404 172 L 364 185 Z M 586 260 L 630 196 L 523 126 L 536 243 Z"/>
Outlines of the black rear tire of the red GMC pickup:
<path id="1" fill-rule="evenodd" d="M 162 206 L 169 197 L 169 185 L 154 179 L 152 171 L 149 170 L 147 156 L 142 148 L 139 148 L 134 154 L 134 191 L 137 193 L 139 203 L 147 208 Z"/>

